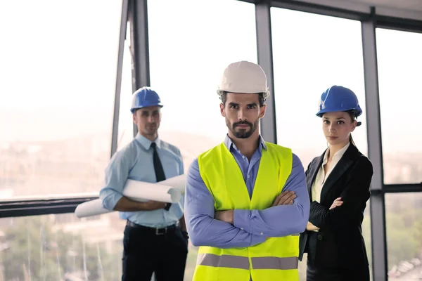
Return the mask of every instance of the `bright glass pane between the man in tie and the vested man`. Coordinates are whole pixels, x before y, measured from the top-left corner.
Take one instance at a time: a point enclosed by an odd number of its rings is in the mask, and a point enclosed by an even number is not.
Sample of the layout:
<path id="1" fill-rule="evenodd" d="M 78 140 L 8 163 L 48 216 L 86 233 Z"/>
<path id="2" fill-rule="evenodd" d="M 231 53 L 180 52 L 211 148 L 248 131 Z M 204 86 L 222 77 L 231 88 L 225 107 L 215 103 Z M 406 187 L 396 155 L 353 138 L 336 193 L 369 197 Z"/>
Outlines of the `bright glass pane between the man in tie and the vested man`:
<path id="1" fill-rule="evenodd" d="M 224 67 L 236 60 L 257 63 L 255 6 L 227 0 L 149 1 L 148 28 L 151 87 L 164 103 L 159 133 L 181 150 L 187 171 L 201 152 L 224 141 L 227 128 L 216 93 Z M 186 280 L 195 263 L 196 249 L 190 247 Z"/>

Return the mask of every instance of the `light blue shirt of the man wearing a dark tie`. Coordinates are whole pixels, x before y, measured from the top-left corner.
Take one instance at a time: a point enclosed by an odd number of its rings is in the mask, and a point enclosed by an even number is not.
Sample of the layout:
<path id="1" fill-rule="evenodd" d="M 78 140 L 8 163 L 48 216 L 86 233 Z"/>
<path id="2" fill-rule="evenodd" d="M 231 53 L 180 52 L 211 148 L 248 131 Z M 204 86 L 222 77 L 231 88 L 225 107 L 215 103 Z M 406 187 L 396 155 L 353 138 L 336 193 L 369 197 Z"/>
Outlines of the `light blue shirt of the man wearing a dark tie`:
<path id="1" fill-rule="evenodd" d="M 157 144 L 158 157 L 164 169 L 165 178 L 172 178 L 184 174 L 183 160 L 179 148 L 161 141 Z M 137 134 L 131 143 L 117 151 L 106 167 L 105 186 L 100 191 L 103 207 L 113 210 L 122 198 L 122 190 L 127 179 L 156 183 L 153 164 L 152 141 Z M 164 228 L 177 223 L 183 215 L 184 195 L 179 203 L 174 203 L 168 211 L 120 211 L 120 218 L 128 219 L 133 223 L 152 228 Z"/>

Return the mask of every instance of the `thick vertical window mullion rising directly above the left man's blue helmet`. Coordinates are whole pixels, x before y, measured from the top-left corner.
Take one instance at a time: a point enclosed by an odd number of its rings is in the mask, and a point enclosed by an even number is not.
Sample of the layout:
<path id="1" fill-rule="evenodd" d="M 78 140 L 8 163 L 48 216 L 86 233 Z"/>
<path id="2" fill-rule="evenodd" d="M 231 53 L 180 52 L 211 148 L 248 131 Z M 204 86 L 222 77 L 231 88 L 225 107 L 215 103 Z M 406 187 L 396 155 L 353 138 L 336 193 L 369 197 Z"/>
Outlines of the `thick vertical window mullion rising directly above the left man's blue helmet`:
<path id="1" fill-rule="evenodd" d="M 150 86 L 147 0 L 129 0 L 132 91 Z M 138 128 L 134 124 L 134 136 Z"/>

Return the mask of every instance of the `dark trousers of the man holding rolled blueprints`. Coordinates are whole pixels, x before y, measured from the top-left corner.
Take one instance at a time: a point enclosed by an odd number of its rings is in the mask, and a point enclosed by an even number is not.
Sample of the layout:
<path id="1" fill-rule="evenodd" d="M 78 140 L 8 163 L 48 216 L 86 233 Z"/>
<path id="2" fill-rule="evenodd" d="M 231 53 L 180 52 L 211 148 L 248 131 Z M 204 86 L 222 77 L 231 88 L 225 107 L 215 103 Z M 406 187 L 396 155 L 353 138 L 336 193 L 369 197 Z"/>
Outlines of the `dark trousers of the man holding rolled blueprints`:
<path id="1" fill-rule="evenodd" d="M 153 228 L 126 226 L 122 281 L 183 281 L 188 240 L 179 227 L 156 234 Z"/>

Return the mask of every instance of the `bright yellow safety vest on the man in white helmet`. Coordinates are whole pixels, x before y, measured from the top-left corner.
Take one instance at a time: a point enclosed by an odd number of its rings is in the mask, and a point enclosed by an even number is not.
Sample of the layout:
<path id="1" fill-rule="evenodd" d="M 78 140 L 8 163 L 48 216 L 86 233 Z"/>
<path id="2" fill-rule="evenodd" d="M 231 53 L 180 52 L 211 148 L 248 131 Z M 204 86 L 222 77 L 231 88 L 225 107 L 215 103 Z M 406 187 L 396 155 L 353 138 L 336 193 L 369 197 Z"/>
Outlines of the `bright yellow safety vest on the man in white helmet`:
<path id="1" fill-rule="evenodd" d="M 267 209 L 280 195 L 292 170 L 289 148 L 266 143 L 252 192 L 224 143 L 198 157 L 200 176 L 215 200 L 215 210 Z M 280 222 L 283 223 L 283 222 Z M 263 234 L 264 235 L 264 234 Z M 253 247 L 200 247 L 193 281 L 298 281 L 299 236 L 270 237 Z"/>

